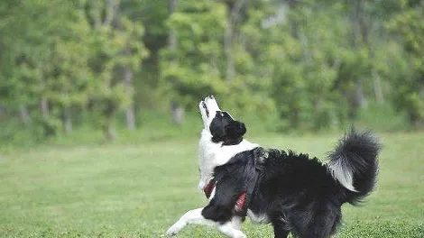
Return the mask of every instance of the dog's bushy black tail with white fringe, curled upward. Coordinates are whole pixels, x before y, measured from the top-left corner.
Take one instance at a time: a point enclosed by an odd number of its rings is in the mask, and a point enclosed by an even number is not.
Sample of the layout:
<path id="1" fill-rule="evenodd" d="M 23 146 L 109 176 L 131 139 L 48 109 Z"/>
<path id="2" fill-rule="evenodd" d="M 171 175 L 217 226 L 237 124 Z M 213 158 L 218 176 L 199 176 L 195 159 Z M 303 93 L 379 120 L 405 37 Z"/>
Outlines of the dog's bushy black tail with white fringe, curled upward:
<path id="1" fill-rule="evenodd" d="M 380 142 L 373 133 L 358 133 L 353 128 L 338 142 L 335 151 L 328 154 L 328 168 L 344 187 L 342 194 L 346 202 L 355 204 L 373 191 L 380 150 Z"/>

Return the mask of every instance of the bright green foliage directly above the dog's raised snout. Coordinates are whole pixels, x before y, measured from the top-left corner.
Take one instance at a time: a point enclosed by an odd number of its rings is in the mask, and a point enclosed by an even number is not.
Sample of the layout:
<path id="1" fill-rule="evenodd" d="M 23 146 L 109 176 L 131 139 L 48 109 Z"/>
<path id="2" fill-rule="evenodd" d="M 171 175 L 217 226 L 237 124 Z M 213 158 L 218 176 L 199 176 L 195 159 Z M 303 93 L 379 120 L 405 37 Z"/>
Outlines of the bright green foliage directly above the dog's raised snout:
<path id="1" fill-rule="evenodd" d="M 225 25 L 225 5 L 212 1 L 183 4 L 171 15 L 168 27 L 178 29 L 178 47 L 162 51 L 161 78 L 182 105 L 193 106 L 207 94 L 226 93 L 220 72 Z"/>

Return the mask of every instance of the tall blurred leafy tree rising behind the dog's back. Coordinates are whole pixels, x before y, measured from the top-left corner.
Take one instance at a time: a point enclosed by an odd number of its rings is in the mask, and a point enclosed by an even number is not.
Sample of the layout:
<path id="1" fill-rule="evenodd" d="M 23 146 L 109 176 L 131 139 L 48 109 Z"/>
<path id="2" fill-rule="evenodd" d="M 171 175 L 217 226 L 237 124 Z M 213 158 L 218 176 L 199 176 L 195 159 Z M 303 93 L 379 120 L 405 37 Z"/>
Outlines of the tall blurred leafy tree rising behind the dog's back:
<path id="1" fill-rule="evenodd" d="M 273 8 L 276 12 L 270 19 L 274 21 L 263 32 L 267 47 L 263 47 L 262 59 L 271 73 L 281 129 L 319 129 L 336 126 L 341 120 L 336 109 L 340 108 L 339 92 L 332 90 L 342 47 L 337 39 L 346 36 L 343 18 L 336 14 L 339 8 L 313 1 Z"/>

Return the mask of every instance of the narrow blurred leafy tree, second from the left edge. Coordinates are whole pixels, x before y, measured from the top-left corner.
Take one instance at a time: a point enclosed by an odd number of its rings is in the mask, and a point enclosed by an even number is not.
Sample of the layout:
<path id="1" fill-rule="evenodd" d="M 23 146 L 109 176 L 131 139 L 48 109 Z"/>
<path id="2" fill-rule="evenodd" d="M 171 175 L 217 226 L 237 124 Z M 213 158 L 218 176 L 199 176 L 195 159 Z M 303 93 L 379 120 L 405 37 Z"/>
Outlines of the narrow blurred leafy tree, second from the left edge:
<path id="1" fill-rule="evenodd" d="M 62 120 L 65 132 L 72 131 L 72 114 L 88 102 L 93 81 L 88 67 L 90 28 L 80 12 L 74 21 L 62 25 L 66 35 L 56 36 L 45 69 L 48 100 L 57 107 L 55 116 Z"/>

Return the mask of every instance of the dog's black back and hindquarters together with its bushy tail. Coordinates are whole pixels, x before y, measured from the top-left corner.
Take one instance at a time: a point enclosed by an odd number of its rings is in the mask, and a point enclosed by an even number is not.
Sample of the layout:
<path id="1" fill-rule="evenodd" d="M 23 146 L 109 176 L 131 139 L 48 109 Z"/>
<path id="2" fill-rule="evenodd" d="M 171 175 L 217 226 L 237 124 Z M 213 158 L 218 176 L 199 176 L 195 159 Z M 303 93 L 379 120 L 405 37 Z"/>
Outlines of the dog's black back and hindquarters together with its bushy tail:
<path id="1" fill-rule="evenodd" d="M 249 208 L 266 215 L 276 237 L 329 237 L 341 220 L 341 206 L 367 196 L 377 175 L 380 145 L 371 133 L 352 130 L 329 154 L 329 166 L 292 151 L 269 150 Z M 335 175 L 335 165 L 339 174 Z M 350 178 L 350 184 L 346 184 Z M 342 181 L 340 181 L 342 180 Z M 280 235 L 277 235 L 280 234 Z"/>

